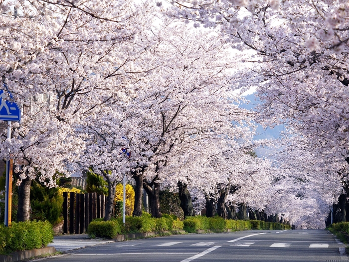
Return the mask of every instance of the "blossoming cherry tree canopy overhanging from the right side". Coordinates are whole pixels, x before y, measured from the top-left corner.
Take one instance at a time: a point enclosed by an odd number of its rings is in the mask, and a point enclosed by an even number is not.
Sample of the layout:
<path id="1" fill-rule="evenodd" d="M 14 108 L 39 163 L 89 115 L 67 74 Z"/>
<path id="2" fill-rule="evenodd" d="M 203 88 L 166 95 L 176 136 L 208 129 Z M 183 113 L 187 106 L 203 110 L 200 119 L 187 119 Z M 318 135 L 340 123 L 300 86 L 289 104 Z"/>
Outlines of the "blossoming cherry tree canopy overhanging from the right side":
<path id="1" fill-rule="evenodd" d="M 302 134 L 301 145 L 308 145 L 303 149 L 338 173 L 346 187 L 348 3 L 222 0 L 173 5 L 168 11 L 172 17 L 218 28 L 221 37 L 245 52 L 236 88 L 258 87 L 263 101 L 259 121 L 265 126 L 286 123 Z"/>

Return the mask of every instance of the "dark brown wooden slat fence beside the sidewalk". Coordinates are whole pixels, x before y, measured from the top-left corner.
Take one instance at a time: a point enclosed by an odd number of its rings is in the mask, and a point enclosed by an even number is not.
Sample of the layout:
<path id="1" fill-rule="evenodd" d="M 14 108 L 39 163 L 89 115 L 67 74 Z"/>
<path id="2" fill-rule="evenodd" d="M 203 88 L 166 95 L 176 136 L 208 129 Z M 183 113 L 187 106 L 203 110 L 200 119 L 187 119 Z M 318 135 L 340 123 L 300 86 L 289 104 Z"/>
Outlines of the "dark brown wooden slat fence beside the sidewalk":
<path id="1" fill-rule="evenodd" d="M 105 195 L 97 193 L 76 194 L 63 192 L 63 233 L 85 234 L 90 222 L 104 218 Z"/>

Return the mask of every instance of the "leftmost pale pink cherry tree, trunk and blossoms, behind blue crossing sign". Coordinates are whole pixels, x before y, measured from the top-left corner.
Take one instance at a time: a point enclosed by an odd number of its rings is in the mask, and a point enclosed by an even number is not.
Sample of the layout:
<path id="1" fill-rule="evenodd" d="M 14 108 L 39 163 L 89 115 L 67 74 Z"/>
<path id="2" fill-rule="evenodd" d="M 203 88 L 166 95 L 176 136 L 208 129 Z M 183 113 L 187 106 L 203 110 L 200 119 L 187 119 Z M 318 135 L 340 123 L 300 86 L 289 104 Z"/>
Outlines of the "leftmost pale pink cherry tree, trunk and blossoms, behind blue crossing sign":
<path id="1" fill-rule="evenodd" d="M 1 8 L 2 79 L 24 106 L 22 122 L 14 126 L 10 145 L 3 140 L 1 152 L 7 157 L 10 149 L 20 180 L 27 181 L 20 184 L 26 189 L 19 204 L 25 209 L 19 220 L 27 220 L 31 179 L 39 175 L 54 186 L 56 171 L 68 175 L 68 164 L 84 148 L 77 125 L 114 96 L 132 92 L 134 77 L 126 77 L 124 68 L 138 55 L 134 35 L 148 18 L 133 1 L 19 0 L 1 1 Z M 38 96 L 48 103 L 37 103 Z"/>

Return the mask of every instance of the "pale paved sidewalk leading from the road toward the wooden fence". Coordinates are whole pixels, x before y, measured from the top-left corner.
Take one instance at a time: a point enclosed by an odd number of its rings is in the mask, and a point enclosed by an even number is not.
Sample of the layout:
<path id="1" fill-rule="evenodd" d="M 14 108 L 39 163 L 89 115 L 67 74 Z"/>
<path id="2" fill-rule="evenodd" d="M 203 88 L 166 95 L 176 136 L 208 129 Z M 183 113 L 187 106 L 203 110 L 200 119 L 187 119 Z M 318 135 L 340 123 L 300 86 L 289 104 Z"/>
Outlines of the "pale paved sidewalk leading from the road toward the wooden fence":
<path id="1" fill-rule="evenodd" d="M 55 247 L 57 251 L 67 252 L 76 249 L 82 249 L 90 246 L 96 246 L 100 244 L 112 243 L 113 240 L 102 240 L 102 239 L 89 239 L 88 235 L 63 235 L 55 236 L 53 243 L 49 244 L 48 247 Z"/>

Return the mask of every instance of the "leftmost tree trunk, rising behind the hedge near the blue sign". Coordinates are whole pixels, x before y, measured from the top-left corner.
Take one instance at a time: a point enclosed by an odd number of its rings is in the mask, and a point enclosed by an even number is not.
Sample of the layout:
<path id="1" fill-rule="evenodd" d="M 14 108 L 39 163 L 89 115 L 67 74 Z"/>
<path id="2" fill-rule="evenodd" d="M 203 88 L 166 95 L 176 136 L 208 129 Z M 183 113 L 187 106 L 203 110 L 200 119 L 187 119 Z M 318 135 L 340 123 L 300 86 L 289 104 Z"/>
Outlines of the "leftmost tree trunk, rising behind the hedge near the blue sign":
<path id="1" fill-rule="evenodd" d="M 18 186 L 17 221 L 24 222 L 30 219 L 30 186 L 31 178 L 22 180 Z"/>

